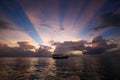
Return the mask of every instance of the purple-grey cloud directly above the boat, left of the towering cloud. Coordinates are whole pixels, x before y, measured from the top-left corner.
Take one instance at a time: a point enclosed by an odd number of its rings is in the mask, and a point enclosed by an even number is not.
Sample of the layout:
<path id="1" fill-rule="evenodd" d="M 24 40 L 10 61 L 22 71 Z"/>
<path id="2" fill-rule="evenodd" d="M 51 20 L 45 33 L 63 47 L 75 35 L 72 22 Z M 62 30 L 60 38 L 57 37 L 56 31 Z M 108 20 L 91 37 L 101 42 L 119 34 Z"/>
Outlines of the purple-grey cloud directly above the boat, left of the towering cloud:
<path id="1" fill-rule="evenodd" d="M 73 41 L 64 41 L 63 43 L 60 42 L 53 42 L 53 45 L 56 46 L 54 51 L 55 54 L 67 54 L 69 51 L 74 50 L 82 50 L 85 47 L 87 42 L 84 40 L 73 42 Z"/>

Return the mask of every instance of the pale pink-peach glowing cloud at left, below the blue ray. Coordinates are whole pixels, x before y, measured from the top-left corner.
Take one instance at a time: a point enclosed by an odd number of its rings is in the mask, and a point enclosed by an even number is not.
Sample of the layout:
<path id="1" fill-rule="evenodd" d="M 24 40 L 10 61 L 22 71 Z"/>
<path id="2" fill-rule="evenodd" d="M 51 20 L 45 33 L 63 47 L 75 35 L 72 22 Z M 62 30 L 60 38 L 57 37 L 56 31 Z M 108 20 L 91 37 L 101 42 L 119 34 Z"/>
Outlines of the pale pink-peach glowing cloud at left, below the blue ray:
<path id="1" fill-rule="evenodd" d="M 6 43 L 10 43 L 8 45 L 10 45 L 11 47 L 17 46 L 18 44 L 16 42 L 19 41 L 31 41 L 36 47 L 38 47 L 37 42 L 35 42 L 35 40 L 32 39 L 31 36 L 28 35 L 26 32 L 21 30 L 0 30 L 0 40 L 3 40 Z"/>

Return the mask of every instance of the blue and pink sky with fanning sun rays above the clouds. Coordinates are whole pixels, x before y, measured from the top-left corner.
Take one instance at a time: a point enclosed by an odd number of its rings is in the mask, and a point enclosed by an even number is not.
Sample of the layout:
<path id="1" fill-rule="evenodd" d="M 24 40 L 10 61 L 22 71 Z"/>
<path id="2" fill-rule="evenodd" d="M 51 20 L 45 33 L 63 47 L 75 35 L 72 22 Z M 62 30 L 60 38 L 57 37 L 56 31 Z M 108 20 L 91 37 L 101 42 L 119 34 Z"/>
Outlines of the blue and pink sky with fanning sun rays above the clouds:
<path id="1" fill-rule="evenodd" d="M 0 0 L 0 42 L 9 46 L 110 38 L 119 22 L 119 0 Z"/>

